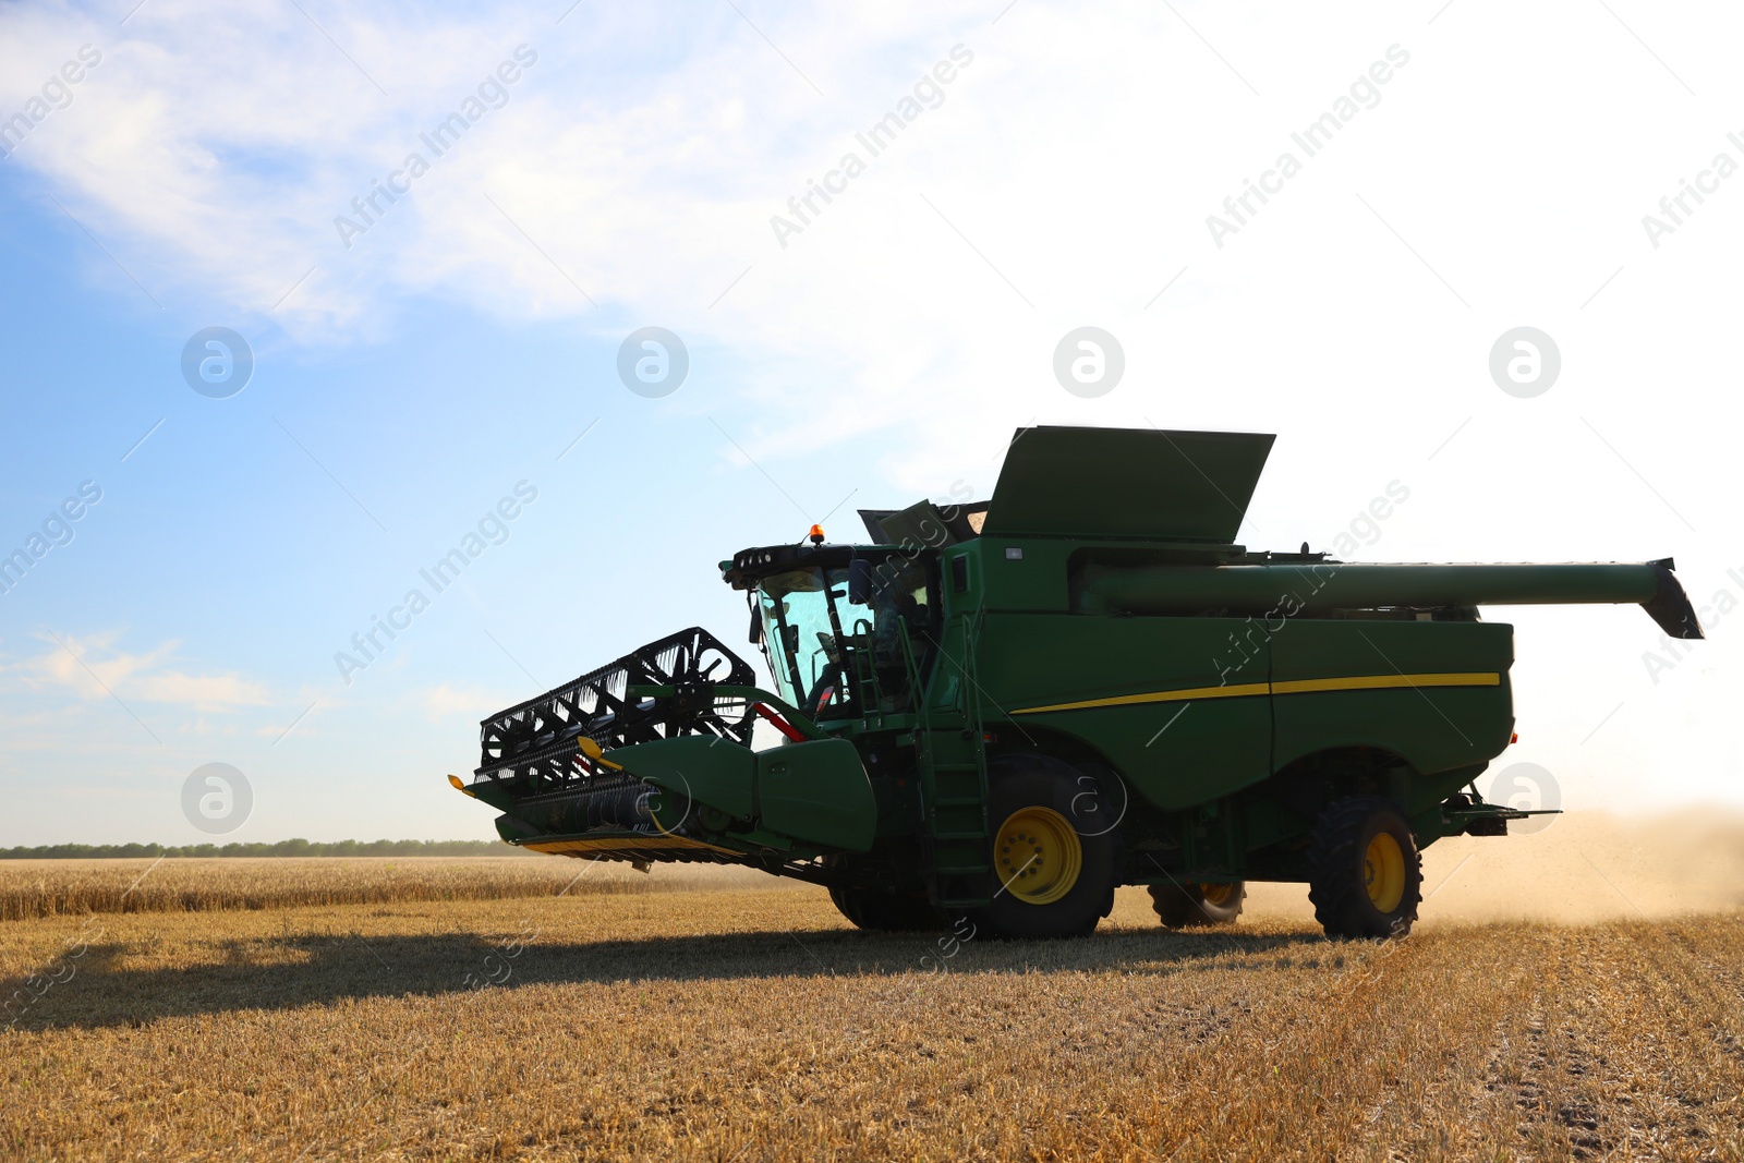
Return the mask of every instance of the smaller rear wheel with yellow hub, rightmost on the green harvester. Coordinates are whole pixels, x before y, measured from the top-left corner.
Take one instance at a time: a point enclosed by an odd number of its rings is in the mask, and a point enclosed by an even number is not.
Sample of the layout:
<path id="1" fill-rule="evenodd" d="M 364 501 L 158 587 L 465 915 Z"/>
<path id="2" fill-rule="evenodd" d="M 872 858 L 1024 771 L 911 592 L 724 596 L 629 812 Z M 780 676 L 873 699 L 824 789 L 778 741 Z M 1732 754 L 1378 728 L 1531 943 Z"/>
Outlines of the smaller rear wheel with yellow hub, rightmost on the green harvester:
<path id="1" fill-rule="evenodd" d="M 1373 795 L 1353 795 L 1320 813 L 1308 877 L 1313 915 L 1332 940 L 1404 936 L 1423 900 L 1423 856 L 1411 825 Z"/>

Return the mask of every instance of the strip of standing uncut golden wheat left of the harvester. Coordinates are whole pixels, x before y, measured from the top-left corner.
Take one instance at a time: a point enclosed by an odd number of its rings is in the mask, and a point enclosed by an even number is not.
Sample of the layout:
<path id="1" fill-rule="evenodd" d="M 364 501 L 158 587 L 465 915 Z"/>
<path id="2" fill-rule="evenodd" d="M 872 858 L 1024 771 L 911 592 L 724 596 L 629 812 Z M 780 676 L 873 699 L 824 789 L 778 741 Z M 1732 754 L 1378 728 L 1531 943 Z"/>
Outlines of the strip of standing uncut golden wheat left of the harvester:
<path id="1" fill-rule="evenodd" d="M 581 881 L 576 881 L 581 874 Z M 439 900 L 647 893 L 694 882 L 654 879 L 624 865 L 551 856 L 267 858 L 267 860 L 7 860 L 0 921 L 112 912 L 204 912 L 302 905 L 391 905 Z"/>

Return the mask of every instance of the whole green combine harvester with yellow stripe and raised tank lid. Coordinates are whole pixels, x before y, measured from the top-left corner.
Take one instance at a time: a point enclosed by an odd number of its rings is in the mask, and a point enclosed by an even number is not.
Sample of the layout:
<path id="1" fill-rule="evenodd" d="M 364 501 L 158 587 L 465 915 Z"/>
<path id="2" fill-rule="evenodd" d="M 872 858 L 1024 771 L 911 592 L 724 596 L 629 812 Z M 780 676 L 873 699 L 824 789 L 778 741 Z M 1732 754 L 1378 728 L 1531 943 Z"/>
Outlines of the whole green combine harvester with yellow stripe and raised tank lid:
<path id="1" fill-rule="evenodd" d="M 1514 628 L 1488 603 L 1638 603 L 1700 638 L 1672 563 L 1357 565 L 1231 544 L 1271 436 L 1034 427 L 992 500 L 862 513 L 872 544 L 745 549 L 774 690 L 703 629 L 481 725 L 509 844 L 748 865 L 865 929 L 1088 933 L 1121 884 L 1165 926 L 1310 886 L 1334 938 L 1397 936 L 1420 851 L 1528 813 Z M 780 746 L 753 752 L 767 722 Z"/>

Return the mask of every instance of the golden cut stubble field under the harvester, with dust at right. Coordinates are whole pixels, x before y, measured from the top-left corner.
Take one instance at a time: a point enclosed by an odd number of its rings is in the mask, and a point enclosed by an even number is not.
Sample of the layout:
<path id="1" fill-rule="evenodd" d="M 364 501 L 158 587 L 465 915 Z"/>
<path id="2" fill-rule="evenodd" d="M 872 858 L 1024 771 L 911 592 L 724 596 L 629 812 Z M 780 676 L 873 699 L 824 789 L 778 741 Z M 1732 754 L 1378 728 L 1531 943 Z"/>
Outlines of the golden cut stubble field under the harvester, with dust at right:
<path id="1" fill-rule="evenodd" d="M 1165 933 L 1123 889 L 1080 942 L 867 935 L 821 889 L 734 870 L 642 879 L 659 891 L 581 891 L 589 874 L 501 900 L 12 921 L 0 1144 L 17 1160 L 1744 1158 L 1739 881 L 1692 877 L 1735 872 L 1744 847 L 1695 860 L 1681 830 L 1568 823 L 1430 849 L 1425 921 L 1393 943 L 1322 940 L 1299 886 L 1256 886 L 1233 929 Z M 288 884 L 326 875 L 281 863 Z M 1540 891 L 1523 900 L 1523 879 Z M 1564 894 L 1587 914 L 1559 917 Z"/>

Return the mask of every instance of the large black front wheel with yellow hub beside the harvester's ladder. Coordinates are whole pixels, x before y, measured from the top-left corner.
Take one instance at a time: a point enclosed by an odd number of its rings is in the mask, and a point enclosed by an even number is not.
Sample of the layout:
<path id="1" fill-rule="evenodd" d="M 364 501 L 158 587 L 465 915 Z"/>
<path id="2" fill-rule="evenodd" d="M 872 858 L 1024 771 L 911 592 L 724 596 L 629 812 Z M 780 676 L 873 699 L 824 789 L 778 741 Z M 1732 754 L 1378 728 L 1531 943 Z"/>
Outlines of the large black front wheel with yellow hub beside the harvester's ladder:
<path id="1" fill-rule="evenodd" d="M 987 783 L 992 903 L 977 910 L 977 926 L 991 936 L 1029 940 L 1085 936 L 1095 929 L 1114 908 L 1120 867 L 1118 828 L 1109 823 L 1111 813 L 1095 811 L 1100 781 L 1057 758 L 1015 755 L 989 764 Z M 1052 839 L 1046 844 L 1029 839 L 1034 828 L 1024 820 Z M 1067 849 L 1066 863 L 1057 858 L 1053 868 L 1045 867 L 1041 853 L 1060 846 Z M 1064 874 L 1073 863 L 1076 872 Z"/>

